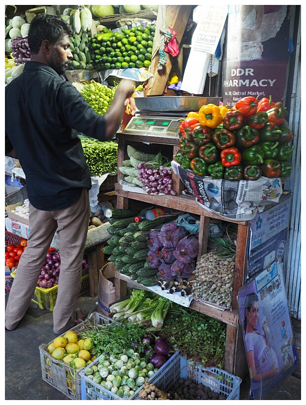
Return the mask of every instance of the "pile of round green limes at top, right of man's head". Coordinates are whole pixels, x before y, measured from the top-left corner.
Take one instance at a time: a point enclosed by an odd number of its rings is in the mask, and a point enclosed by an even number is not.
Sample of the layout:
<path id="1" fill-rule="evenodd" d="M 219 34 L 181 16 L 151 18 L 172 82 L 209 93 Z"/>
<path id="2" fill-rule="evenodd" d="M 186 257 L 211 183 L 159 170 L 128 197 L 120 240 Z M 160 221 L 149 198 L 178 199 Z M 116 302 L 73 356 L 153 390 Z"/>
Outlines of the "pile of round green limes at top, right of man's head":
<path id="1" fill-rule="evenodd" d="M 155 26 L 147 24 L 122 33 L 107 28 L 89 40 L 93 67 L 103 69 L 148 68 L 151 65 Z"/>

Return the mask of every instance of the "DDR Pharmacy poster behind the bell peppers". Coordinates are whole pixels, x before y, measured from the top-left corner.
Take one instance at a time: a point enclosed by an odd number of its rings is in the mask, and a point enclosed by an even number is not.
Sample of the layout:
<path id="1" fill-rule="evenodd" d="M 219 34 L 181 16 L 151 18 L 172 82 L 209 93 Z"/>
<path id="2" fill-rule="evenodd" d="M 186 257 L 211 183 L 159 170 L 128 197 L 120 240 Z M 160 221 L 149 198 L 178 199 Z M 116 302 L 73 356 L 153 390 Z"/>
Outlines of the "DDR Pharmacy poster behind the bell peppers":
<path id="1" fill-rule="evenodd" d="M 230 5 L 223 103 L 232 107 L 242 97 L 272 96 L 283 101 L 289 59 L 287 5 Z"/>

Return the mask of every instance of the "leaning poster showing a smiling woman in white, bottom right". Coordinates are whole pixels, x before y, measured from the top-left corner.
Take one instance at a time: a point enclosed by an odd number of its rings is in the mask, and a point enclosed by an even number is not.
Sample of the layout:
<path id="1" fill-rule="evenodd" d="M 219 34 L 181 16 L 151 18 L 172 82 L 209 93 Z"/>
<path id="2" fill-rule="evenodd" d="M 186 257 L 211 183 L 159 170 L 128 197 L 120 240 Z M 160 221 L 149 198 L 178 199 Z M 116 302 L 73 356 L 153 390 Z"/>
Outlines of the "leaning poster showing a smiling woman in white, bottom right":
<path id="1" fill-rule="evenodd" d="M 238 310 L 251 378 L 250 399 L 265 400 L 268 391 L 298 364 L 280 260 L 240 288 Z"/>

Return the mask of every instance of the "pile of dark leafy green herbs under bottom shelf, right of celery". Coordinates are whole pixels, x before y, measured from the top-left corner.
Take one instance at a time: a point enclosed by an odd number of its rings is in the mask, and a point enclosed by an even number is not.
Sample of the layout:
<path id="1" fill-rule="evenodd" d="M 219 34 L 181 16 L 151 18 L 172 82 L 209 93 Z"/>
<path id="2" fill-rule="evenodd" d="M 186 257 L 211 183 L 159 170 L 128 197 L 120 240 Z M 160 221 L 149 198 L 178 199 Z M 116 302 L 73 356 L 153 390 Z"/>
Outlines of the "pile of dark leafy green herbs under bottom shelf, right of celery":
<path id="1" fill-rule="evenodd" d="M 173 303 L 160 336 L 188 359 L 204 366 L 223 366 L 226 324 Z"/>

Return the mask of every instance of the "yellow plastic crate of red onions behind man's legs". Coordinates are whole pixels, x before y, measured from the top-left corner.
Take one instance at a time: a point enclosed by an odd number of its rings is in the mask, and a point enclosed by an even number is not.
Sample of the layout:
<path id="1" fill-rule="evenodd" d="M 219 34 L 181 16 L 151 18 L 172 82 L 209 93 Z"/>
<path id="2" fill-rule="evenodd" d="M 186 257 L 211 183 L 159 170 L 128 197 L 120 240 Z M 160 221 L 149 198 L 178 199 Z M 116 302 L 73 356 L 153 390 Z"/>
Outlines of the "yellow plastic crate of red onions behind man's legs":
<path id="1" fill-rule="evenodd" d="M 87 274 L 82 276 L 81 289 L 79 295 L 83 295 L 90 290 L 90 281 L 88 270 Z M 14 278 L 15 273 L 12 272 L 11 276 Z M 36 287 L 32 297 L 32 302 L 38 305 L 40 309 L 46 309 L 52 312 L 56 303 L 58 285 L 51 288 Z"/>

